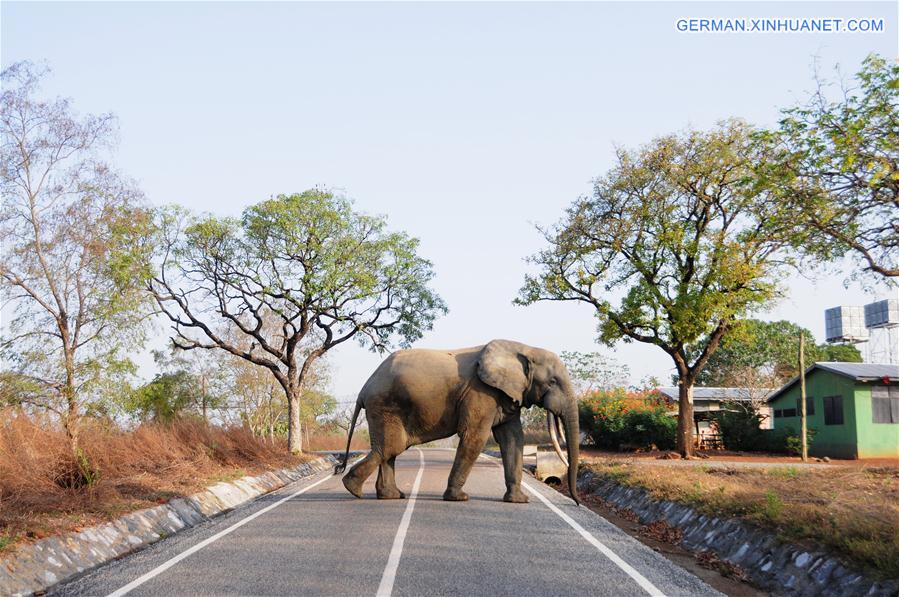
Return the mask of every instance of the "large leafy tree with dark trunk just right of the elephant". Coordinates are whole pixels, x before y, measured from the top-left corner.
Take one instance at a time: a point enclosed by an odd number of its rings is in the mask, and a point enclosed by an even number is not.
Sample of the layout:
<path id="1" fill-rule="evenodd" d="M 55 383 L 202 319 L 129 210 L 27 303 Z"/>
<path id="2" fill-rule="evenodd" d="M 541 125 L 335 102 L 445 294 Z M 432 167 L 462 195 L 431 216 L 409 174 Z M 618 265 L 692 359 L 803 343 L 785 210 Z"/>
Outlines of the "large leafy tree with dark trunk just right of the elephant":
<path id="1" fill-rule="evenodd" d="M 678 450 L 693 450 L 693 385 L 734 321 L 779 294 L 782 231 L 751 184 L 765 147 L 738 121 L 621 149 L 593 193 L 544 230 L 517 299 L 580 301 L 599 339 L 664 350 L 678 374 Z M 618 305 L 610 294 L 623 294 Z M 702 345 L 699 344 L 703 339 Z"/>

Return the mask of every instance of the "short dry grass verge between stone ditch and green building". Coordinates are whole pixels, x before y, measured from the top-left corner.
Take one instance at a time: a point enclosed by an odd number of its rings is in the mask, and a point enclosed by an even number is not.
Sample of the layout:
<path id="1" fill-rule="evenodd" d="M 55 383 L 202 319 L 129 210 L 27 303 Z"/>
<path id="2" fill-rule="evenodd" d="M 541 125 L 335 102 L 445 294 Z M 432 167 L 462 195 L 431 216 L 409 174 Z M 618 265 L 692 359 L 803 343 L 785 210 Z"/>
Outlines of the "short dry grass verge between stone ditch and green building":
<path id="1" fill-rule="evenodd" d="M 713 516 L 741 518 L 816 543 L 885 578 L 899 578 L 899 467 L 802 469 L 587 465 L 618 483 Z"/>

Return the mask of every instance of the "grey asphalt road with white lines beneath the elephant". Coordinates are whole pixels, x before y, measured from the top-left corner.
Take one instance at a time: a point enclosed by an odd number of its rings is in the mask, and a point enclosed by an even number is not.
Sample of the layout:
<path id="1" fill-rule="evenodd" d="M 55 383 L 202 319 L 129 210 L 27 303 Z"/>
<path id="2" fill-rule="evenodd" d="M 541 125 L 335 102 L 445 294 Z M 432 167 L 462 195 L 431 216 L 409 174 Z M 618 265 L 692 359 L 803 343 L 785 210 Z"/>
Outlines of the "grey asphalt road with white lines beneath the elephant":
<path id="1" fill-rule="evenodd" d="M 529 504 L 504 503 L 502 471 L 487 457 L 465 485 L 470 501 L 444 502 L 453 455 L 413 448 L 397 459 L 397 484 L 414 499 L 376 500 L 372 479 L 359 500 L 322 473 L 53 593 L 719 594 L 533 478 Z"/>

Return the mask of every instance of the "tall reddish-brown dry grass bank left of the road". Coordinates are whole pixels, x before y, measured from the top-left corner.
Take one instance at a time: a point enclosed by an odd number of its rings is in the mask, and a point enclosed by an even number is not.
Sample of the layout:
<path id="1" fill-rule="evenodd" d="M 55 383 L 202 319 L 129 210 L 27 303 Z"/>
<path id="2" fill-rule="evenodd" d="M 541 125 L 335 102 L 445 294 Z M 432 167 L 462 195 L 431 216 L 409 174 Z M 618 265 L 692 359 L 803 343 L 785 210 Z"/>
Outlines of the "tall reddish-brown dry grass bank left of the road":
<path id="1" fill-rule="evenodd" d="M 0 551 L 306 459 L 284 441 L 196 421 L 133 431 L 93 422 L 73 451 L 48 421 L 0 410 Z"/>

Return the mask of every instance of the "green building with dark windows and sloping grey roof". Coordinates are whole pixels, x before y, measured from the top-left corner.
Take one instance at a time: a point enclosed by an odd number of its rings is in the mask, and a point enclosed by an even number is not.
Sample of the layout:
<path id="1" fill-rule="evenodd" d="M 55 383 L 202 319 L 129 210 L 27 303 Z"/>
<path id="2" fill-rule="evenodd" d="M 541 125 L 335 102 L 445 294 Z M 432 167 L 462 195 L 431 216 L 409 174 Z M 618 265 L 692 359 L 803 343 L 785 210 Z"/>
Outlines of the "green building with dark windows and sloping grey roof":
<path id="1" fill-rule="evenodd" d="M 805 384 L 812 455 L 899 458 L 899 365 L 815 363 Z M 799 377 L 771 395 L 775 430 L 798 435 L 799 399 Z"/>

